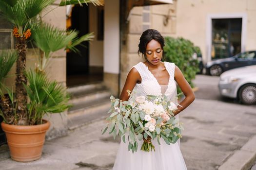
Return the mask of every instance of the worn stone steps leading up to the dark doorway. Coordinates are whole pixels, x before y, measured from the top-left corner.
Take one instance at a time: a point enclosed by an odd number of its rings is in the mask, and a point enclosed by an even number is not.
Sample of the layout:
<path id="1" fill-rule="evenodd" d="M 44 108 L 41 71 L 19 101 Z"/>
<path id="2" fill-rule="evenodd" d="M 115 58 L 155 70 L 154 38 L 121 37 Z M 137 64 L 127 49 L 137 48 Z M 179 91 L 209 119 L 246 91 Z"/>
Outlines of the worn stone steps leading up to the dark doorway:
<path id="1" fill-rule="evenodd" d="M 110 90 L 102 83 L 68 88 L 71 95 L 68 128 L 76 129 L 99 119 L 107 118 L 110 109 Z"/>

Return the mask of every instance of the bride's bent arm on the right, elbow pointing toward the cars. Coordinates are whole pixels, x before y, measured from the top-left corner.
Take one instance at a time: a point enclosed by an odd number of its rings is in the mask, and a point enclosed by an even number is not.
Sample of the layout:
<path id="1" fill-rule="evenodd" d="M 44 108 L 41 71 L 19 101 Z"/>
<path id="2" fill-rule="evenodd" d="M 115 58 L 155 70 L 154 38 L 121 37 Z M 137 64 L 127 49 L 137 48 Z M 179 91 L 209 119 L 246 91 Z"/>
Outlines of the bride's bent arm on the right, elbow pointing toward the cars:
<path id="1" fill-rule="evenodd" d="M 179 103 L 182 107 L 178 106 L 177 110 L 174 112 L 174 115 L 177 115 L 179 112 L 184 110 L 195 100 L 195 94 L 192 91 L 191 86 L 189 85 L 189 83 L 187 82 L 185 77 L 183 76 L 182 72 L 180 71 L 180 69 L 177 66 L 175 66 L 174 77 L 175 77 L 175 80 L 176 80 L 177 84 L 179 85 L 181 91 L 185 95 L 185 99 Z"/>

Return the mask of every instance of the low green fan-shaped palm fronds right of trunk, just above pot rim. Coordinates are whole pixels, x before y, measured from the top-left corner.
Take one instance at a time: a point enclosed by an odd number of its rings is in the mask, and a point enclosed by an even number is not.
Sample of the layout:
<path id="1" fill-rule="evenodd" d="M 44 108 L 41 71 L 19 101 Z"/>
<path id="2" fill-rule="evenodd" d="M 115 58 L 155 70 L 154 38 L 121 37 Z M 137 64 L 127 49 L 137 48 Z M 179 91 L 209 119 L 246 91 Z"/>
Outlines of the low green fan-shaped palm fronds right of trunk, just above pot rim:
<path id="1" fill-rule="evenodd" d="M 39 122 L 47 113 L 60 113 L 70 105 L 67 104 L 69 96 L 65 87 L 56 81 L 49 81 L 41 72 L 27 70 L 25 72 L 29 85 L 25 85 L 30 99 L 29 110 L 33 112 L 30 122 Z"/>

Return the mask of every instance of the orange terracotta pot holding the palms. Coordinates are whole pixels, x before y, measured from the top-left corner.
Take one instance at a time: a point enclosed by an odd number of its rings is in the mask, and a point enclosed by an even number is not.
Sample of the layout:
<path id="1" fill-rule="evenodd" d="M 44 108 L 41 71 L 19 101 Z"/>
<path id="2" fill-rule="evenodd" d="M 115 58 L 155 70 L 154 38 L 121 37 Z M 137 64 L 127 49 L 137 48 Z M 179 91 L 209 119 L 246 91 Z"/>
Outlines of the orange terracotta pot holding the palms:
<path id="1" fill-rule="evenodd" d="M 13 160 L 29 162 L 41 157 L 45 133 L 50 127 L 49 121 L 43 120 L 43 122 L 32 126 L 1 123 Z"/>

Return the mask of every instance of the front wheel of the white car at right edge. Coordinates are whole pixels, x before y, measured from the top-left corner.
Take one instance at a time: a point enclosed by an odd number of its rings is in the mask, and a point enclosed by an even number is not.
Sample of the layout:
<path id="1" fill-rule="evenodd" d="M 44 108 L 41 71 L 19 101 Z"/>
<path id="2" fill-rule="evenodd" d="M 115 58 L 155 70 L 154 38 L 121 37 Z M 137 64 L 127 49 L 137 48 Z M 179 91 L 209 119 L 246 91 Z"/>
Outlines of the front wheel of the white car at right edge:
<path id="1" fill-rule="evenodd" d="M 239 99 L 244 104 L 256 103 L 256 85 L 248 84 L 239 90 Z"/>

